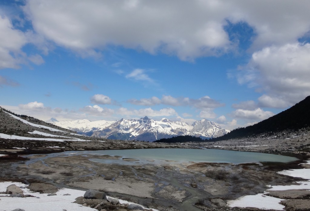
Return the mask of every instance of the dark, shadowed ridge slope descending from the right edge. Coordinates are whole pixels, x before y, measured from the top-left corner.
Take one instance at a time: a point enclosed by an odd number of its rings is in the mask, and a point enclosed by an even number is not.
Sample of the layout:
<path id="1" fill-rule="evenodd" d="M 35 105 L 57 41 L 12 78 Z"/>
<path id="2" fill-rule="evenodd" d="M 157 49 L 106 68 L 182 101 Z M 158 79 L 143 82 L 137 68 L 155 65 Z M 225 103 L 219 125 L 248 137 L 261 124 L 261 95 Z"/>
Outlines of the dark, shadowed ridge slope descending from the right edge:
<path id="1" fill-rule="evenodd" d="M 277 132 L 283 130 L 298 130 L 310 126 L 310 96 L 306 97 L 291 108 L 282 111 L 268 119 L 248 127 L 232 130 L 228 134 L 214 138 L 213 141 L 228 140 L 255 136 L 262 133 Z"/>

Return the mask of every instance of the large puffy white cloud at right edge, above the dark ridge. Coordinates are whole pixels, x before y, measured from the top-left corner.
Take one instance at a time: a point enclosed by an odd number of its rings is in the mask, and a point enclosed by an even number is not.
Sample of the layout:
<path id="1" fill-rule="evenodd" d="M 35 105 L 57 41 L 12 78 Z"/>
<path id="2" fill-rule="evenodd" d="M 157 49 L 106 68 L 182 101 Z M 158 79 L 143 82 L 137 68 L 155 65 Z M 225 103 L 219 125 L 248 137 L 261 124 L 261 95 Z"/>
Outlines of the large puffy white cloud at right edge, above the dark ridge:
<path id="1" fill-rule="evenodd" d="M 309 67 L 309 43 L 271 46 L 255 52 L 238 79 L 266 92 L 259 106 L 286 108 L 310 95 Z"/>

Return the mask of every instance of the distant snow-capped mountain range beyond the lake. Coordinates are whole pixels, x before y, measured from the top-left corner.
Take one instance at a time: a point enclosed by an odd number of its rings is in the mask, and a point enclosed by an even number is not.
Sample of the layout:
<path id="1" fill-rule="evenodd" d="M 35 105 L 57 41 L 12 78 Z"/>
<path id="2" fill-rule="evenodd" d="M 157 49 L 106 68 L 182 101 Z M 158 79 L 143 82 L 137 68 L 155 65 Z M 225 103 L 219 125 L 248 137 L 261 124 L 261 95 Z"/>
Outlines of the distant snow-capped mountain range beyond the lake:
<path id="1" fill-rule="evenodd" d="M 229 130 L 221 128 L 217 123 L 207 119 L 189 125 L 184 122 L 171 121 L 163 118 L 160 121 L 148 117 L 136 119 L 121 119 L 119 121 L 89 121 L 87 119 L 74 121 L 48 120 L 57 126 L 77 131 L 87 136 L 95 136 L 118 140 L 155 141 L 173 136 L 197 136 L 203 139 L 223 136 Z"/>

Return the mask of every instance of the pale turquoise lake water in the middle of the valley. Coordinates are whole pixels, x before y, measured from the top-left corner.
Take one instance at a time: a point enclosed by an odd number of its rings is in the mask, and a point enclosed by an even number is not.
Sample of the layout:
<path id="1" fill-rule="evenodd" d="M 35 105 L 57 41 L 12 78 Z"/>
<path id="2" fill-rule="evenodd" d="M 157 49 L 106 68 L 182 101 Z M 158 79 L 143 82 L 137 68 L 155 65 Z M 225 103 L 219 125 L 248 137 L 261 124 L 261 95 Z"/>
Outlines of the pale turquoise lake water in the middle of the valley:
<path id="1" fill-rule="evenodd" d="M 216 162 L 216 163 L 259 163 L 259 162 L 291 162 L 298 160 L 295 157 L 274 155 L 267 153 L 253 153 L 228 151 L 221 149 L 122 149 L 84 151 L 83 154 L 122 156 L 139 161 L 124 161 L 92 158 L 91 161 L 117 164 L 163 164 L 183 162 Z"/>

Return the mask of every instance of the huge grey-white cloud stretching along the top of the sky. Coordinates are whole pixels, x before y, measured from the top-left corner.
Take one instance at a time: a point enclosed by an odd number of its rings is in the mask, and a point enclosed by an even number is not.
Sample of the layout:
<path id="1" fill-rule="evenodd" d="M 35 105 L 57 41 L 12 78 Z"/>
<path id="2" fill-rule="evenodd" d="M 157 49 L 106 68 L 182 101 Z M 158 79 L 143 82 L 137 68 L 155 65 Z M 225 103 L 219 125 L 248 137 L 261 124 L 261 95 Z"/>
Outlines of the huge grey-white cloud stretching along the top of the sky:
<path id="1" fill-rule="evenodd" d="M 94 54 L 113 44 L 192 60 L 231 50 L 226 20 L 254 29 L 254 50 L 296 41 L 309 31 L 309 7 L 290 0 L 32 0 L 24 11 L 36 32 L 72 50 Z"/>

